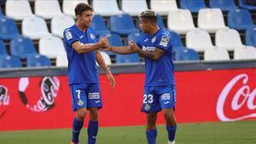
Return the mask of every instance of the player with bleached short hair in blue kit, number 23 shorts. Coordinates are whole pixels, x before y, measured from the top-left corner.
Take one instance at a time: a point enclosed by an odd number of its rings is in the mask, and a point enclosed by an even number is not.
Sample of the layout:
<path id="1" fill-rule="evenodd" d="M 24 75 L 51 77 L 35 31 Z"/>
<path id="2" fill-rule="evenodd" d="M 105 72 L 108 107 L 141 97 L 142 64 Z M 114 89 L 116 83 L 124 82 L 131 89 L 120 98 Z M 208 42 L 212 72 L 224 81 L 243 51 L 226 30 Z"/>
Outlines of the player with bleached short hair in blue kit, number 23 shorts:
<path id="1" fill-rule="evenodd" d="M 138 38 L 137 43 L 130 41 L 130 46 L 109 46 L 105 50 L 121 55 L 137 53 L 145 58 L 146 80 L 142 112 L 147 114 L 148 144 L 156 143 L 155 123 L 157 112 L 160 111 L 164 113 L 166 119 L 168 144 L 174 144 L 177 129 L 174 115 L 176 91 L 170 34 L 157 26 L 156 13 L 152 10 L 145 10 L 139 14 L 139 20 L 144 34 Z"/>

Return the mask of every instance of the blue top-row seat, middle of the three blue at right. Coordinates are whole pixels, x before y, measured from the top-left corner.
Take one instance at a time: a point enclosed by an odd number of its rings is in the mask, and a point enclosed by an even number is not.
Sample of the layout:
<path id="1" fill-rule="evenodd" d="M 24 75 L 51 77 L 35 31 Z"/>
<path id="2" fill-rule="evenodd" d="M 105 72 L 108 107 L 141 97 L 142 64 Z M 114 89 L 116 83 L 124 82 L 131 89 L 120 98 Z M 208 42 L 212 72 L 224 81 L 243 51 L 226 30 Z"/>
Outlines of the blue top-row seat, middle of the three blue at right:
<path id="1" fill-rule="evenodd" d="M 237 9 L 234 0 L 209 0 L 209 5 L 211 8 L 218 8 L 223 11 Z"/>

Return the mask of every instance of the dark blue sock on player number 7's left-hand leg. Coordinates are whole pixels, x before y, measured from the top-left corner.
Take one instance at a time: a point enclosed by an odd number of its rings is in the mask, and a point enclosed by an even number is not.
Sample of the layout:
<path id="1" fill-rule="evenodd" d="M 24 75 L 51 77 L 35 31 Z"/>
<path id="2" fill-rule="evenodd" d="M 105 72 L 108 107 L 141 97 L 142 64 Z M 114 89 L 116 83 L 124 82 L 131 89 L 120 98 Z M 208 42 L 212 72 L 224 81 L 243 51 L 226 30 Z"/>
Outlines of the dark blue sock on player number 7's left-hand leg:
<path id="1" fill-rule="evenodd" d="M 73 118 L 73 132 L 72 132 L 72 141 L 74 143 L 79 143 L 79 134 L 82 129 L 84 121 L 79 122 L 77 118 Z"/>

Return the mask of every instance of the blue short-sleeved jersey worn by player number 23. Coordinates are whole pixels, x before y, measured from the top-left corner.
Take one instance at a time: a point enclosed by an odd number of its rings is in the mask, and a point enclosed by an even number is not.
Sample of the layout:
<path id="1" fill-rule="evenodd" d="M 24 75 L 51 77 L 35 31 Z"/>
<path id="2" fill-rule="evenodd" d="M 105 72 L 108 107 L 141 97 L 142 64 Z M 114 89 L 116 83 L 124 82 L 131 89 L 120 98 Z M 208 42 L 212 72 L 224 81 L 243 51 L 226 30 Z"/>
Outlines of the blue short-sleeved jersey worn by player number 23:
<path id="1" fill-rule="evenodd" d="M 146 80 L 144 86 L 175 85 L 170 33 L 164 29 L 160 29 L 153 36 L 145 33 L 139 37 L 137 46 L 144 51 L 154 51 L 154 49 L 165 51 L 159 60 L 145 58 Z"/>

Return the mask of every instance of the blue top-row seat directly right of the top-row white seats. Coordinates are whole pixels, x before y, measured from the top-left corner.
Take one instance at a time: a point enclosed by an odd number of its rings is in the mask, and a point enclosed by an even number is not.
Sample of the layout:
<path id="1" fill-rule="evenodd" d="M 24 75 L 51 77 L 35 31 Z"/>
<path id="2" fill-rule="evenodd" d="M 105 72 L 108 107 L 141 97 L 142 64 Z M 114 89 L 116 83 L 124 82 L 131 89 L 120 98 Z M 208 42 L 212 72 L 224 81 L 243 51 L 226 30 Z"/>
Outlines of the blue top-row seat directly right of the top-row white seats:
<path id="1" fill-rule="evenodd" d="M 189 9 L 192 13 L 207 8 L 204 0 L 180 0 L 179 3 L 181 9 Z"/>

